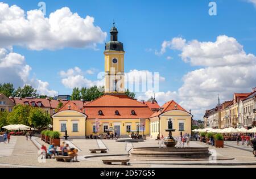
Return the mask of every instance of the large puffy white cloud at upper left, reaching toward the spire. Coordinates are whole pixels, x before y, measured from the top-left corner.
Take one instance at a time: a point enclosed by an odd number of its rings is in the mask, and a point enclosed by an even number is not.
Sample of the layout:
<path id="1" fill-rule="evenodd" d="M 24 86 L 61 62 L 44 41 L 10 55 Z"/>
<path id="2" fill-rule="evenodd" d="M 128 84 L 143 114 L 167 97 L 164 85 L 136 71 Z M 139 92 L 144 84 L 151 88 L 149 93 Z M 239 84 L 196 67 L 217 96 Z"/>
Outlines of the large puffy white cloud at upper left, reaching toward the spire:
<path id="1" fill-rule="evenodd" d="M 27 13 L 14 5 L 0 2 L 0 46 L 21 45 L 32 50 L 96 48 L 106 32 L 94 25 L 94 18 L 82 18 L 63 7 L 45 18 L 40 10 Z"/>

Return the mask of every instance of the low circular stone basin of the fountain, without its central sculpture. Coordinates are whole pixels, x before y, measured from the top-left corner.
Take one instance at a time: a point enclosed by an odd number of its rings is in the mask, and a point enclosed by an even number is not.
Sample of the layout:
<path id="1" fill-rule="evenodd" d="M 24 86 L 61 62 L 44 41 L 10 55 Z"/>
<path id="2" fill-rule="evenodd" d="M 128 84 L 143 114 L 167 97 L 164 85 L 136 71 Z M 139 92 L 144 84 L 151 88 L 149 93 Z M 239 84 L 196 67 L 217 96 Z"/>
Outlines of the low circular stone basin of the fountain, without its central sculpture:
<path id="1" fill-rule="evenodd" d="M 203 159 L 209 157 L 208 147 L 183 147 L 183 148 L 159 148 L 159 147 L 134 147 L 131 157 L 159 157 L 159 158 L 190 158 Z"/>

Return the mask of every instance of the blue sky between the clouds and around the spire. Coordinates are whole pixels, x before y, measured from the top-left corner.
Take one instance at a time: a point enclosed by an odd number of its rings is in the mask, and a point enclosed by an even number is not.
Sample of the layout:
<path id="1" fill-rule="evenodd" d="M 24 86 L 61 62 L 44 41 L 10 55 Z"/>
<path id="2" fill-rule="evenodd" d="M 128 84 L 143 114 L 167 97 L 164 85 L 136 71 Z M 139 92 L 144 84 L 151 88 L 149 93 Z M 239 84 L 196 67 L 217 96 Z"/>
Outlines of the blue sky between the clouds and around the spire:
<path id="1" fill-rule="evenodd" d="M 3 1 L 9 6 L 19 6 L 24 11 L 39 8 L 40 1 Z M 77 12 L 81 18 L 89 15 L 94 18 L 94 25 L 107 32 L 104 43 L 109 40 L 109 30 L 113 19 L 119 31 L 118 40 L 125 47 L 125 71 L 148 70 L 160 73 L 164 82 L 160 82 L 159 92 L 170 91 L 169 95 L 185 108 L 192 108 L 194 101 L 184 102 L 179 95 L 180 88 L 184 86 L 184 75 L 197 69 L 205 68 L 200 63 L 184 62 L 179 56 L 183 50 L 168 48 L 166 53 L 160 52 L 164 40 L 171 41 L 175 37 L 185 39 L 187 42 L 197 40 L 200 42 L 215 42 L 218 36 L 233 37 L 243 46 L 246 54 L 256 54 L 256 5 L 246 0 L 220 0 L 217 3 L 217 16 L 208 14 L 210 1 L 44 1 L 46 2 L 46 17 L 62 7 L 69 7 L 71 12 Z M 31 67 L 29 78 L 48 82 L 48 88 L 58 91 L 59 94 L 71 94 L 72 89 L 61 83 L 60 71 L 67 71 L 79 67 L 82 71 L 93 69 L 94 74 L 84 74 L 86 79 L 96 80 L 96 74 L 104 71 L 104 43 L 97 43 L 97 50 L 92 48 L 73 48 L 55 50 L 31 50 L 24 45 L 13 45 L 13 52 L 21 54 L 26 64 Z M 172 59 L 167 59 L 170 56 Z M 190 57 L 188 57 L 190 58 Z M 255 69 L 256 70 L 256 69 Z M 238 76 L 239 77 L 239 76 Z M 232 98 L 233 92 L 249 91 L 250 86 L 256 86 L 255 78 L 245 87 L 223 86 L 226 92 L 210 91 L 212 95 L 208 104 L 195 108 L 198 118 L 204 108 L 214 107 L 217 103 L 217 93 L 221 93 L 222 100 Z M 255 83 L 253 83 L 255 82 Z M 0 80 L 1 83 L 1 80 Z M 252 86 L 251 84 L 255 84 Z M 189 90 L 189 89 L 187 89 Z M 234 91 L 241 90 L 241 91 Z M 183 90 L 184 92 L 184 90 Z M 189 93 L 189 92 L 187 92 Z M 141 94 L 140 94 L 141 95 Z M 137 96 L 139 99 L 150 96 Z M 183 95 L 184 96 L 184 95 Z M 159 100 L 163 103 L 161 94 Z M 167 97 L 168 99 L 168 97 Z M 145 99 L 146 100 L 146 99 Z M 169 100 L 169 99 L 168 99 Z"/>

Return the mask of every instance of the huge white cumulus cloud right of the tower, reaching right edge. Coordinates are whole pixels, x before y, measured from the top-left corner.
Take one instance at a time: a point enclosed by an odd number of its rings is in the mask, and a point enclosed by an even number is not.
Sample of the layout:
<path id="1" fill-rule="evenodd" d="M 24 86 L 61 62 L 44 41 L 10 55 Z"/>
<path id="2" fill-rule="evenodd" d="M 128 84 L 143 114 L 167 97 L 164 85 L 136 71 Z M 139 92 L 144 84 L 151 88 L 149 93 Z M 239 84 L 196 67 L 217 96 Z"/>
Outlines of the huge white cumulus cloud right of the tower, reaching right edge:
<path id="1" fill-rule="evenodd" d="M 256 57 L 246 54 L 233 37 L 218 36 L 214 42 L 174 39 L 168 42 L 170 45 L 167 47 L 180 50 L 184 62 L 200 67 L 183 76 L 183 85 L 177 92 L 162 94 L 166 99 L 175 99 L 174 94 L 177 94 L 177 101 L 185 109 L 192 109 L 196 118 L 202 118 L 205 109 L 216 106 L 218 94 L 222 101 L 232 100 L 234 92 L 250 92 L 255 87 Z M 175 41 L 182 45 L 175 46 Z"/>

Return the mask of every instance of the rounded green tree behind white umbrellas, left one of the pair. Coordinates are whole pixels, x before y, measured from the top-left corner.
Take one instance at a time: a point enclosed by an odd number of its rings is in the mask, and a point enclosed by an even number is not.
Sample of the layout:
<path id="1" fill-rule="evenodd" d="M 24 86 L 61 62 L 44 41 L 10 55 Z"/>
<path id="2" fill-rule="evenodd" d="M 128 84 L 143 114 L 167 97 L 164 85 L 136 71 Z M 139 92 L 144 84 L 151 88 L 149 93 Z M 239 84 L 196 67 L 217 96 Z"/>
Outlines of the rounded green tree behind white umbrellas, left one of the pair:
<path id="1" fill-rule="evenodd" d="M 28 116 L 30 115 L 31 106 L 29 105 L 16 105 L 13 108 L 13 112 L 10 112 L 7 116 L 7 122 L 10 124 L 24 124 L 30 125 L 28 122 Z"/>

